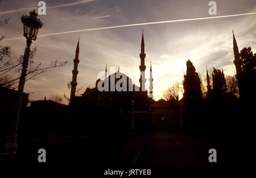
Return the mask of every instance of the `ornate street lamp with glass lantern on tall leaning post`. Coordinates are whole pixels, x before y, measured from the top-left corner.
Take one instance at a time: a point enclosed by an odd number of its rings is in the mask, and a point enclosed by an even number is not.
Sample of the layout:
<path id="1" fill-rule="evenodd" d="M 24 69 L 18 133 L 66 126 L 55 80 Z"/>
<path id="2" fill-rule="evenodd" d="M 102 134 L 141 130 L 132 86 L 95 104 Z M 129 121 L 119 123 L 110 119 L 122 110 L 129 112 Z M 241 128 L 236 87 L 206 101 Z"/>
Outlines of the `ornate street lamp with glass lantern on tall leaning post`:
<path id="1" fill-rule="evenodd" d="M 28 67 L 28 58 L 30 56 L 30 46 L 32 40 L 36 40 L 36 36 L 38 35 L 39 29 L 43 26 L 43 23 L 40 19 L 37 19 L 35 10 L 30 12 L 30 16 L 23 15 L 21 17 L 21 21 L 23 23 L 23 36 L 27 39 L 27 46 L 23 56 L 22 62 L 22 72 L 19 78 L 19 86 L 18 86 L 18 93 L 16 95 L 15 100 L 15 112 L 14 117 L 11 117 L 11 129 L 10 133 L 7 136 L 7 141 L 5 147 L 3 148 L 3 155 L 10 155 L 16 154 L 17 150 L 17 130 L 18 130 L 18 122 L 19 122 L 19 115 L 20 109 L 22 106 L 22 98 L 23 98 L 23 91 L 24 91 L 24 84 L 26 82 L 26 75 L 27 75 L 27 67 Z"/>

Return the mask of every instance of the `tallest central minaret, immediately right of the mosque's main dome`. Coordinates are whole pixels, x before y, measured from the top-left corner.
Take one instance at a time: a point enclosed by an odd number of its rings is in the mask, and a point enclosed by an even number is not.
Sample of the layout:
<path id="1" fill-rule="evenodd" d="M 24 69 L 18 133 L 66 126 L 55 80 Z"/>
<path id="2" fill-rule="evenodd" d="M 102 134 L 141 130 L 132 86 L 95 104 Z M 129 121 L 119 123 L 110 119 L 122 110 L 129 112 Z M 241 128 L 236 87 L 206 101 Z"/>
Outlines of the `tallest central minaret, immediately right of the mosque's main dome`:
<path id="1" fill-rule="evenodd" d="M 143 29 L 142 29 L 142 39 L 141 39 L 141 53 L 139 54 L 139 57 L 141 58 L 141 65 L 139 66 L 139 69 L 141 70 L 141 78 L 139 79 L 139 83 L 140 83 L 140 88 L 139 91 L 146 91 L 145 88 L 145 70 L 146 70 L 146 66 L 145 66 L 145 50 L 144 50 L 144 35 L 143 35 Z"/>

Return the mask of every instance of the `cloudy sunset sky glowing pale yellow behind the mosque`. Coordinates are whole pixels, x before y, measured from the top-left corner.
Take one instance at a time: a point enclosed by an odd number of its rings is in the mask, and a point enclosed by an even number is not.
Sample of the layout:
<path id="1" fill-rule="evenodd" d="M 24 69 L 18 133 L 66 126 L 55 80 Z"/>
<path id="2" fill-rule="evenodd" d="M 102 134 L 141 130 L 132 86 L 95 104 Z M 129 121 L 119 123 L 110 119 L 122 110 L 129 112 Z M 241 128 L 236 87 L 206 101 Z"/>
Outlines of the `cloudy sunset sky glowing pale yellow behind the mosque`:
<path id="1" fill-rule="evenodd" d="M 0 45 L 11 45 L 11 57 L 14 59 L 24 53 L 26 45 L 20 16 L 28 15 L 30 10 L 39 7 L 38 2 L 0 1 L 0 19 L 10 19 L 9 24 L 1 27 L 0 34 L 6 37 Z M 34 80 L 28 80 L 24 92 L 32 92 L 30 100 L 44 99 L 44 96 L 49 98 L 55 93 L 70 95 L 67 84 L 72 80 L 79 37 L 77 87 L 83 87 L 83 90 L 95 87 L 97 74 L 105 71 L 106 64 L 108 71 L 110 67 L 117 71 L 119 65 L 120 71 L 139 86 L 143 29 L 146 78 L 149 79 L 151 61 L 155 100 L 162 98 L 163 92 L 174 82 L 182 82 L 188 59 L 200 74 L 206 73 L 206 66 L 208 69 L 223 69 L 225 75 L 235 74 L 232 29 L 240 50 L 250 46 L 256 52 L 256 14 L 228 16 L 256 12 L 255 0 L 215 1 L 216 15 L 209 15 L 208 0 L 44 2 L 46 15 L 38 16 L 43 27 L 31 45 L 31 48 L 37 48 L 35 62 L 42 62 L 42 67 L 55 60 L 69 62 L 64 67 L 49 69 Z M 214 16 L 226 17 L 197 19 Z M 197 20 L 179 22 L 181 19 Z M 163 21 L 170 22 L 151 23 Z M 149 87 L 149 82 L 146 86 Z"/>

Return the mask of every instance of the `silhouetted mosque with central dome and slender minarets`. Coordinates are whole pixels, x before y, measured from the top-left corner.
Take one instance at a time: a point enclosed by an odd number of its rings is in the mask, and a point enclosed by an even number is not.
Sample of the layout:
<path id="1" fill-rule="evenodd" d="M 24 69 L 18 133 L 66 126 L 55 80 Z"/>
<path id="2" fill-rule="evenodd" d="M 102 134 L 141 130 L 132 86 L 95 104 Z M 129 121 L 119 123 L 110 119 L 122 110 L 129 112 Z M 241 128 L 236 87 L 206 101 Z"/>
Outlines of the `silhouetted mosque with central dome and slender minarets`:
<path id="1" fill-rule="evenodd" d="M 162 100 L 159 100 L 159 102 L 154 101 L 152 97 L 148 97 L 148 91 L 145 88 L 146 78 L 144 73 L 146 70 L 146 53 L 144 46 L 144 34 L 142 31 L 141 53 L 139 54 L 141 58 L 139 66 L 139 70 L 141 71 L 139 87 L 133 84 L 133 80 L 127 77 L 126 74 L 121 73 L 119 66 L 116 73 L 108 76 L 108 66 L 106 65 L 105 78 L 102 80 L 97 79 L 95 87 L 88 87 L 81 96 L 75 96 L 74 91 L 77 85 L 76 78 L 79 63 L 79 43 L 77 43 L 74 69 L 72 70 L 72 90 L 69 106 L 71 108 L 73 126 L 78 135 L 129 132 L 132 126 L 132 115 L 135 130 L 177 126 L 177 124 L 174 124 L 172 121 L 174 121 L 174 117 L 176 117 L 175 122 L 178 123 L 179 116 L 174 115 L 173 110 L 166 109 L 171 108 L 170 103 Z M 123 77 L 126 78 L 126 82 L 122 83 L 121 87 L 126 90 L 118 91 L 114 86 L 120 83 Z M 151 62 L 149 80 L 149 96 L 153 96 Z M 106 87 L 105 84 L 108 84 L 108 87 Z M 123 84 L 125 84 L 125 86 L 122 86 Z M 108 90 L 99 91 L 98 86 L 105 87 Z M 132 88 L 130 88 L 131 86 Z M 159 108 L 160 105 L 164 105 L 164 109 Z M 154 112 L 152 111 L 153 108 Z M 163 126 L 163 123 L 167 124 Z"/>

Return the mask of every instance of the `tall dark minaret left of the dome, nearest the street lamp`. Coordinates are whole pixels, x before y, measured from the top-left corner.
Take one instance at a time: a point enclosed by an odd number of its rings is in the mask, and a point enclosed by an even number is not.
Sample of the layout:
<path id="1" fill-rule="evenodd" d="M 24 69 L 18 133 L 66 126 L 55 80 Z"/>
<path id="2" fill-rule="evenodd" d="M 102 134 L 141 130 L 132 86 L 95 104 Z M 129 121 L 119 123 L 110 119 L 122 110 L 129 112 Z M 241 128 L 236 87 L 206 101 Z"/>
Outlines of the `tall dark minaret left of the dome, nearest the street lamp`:
<path id="1" fill-rule="evenodd" d="M 77 46 L 76 46 L 76 56 L 74 59 L 74 69 L 72 70 L 72 82 L 71 82 L 71 95 L 70 95 L 70 100 L 73 99 L 74 96 L 76 96 L 76 86 L 77 86 L 77 74 L 78 74 L 78 64 L 79 64 L 79 41 L 77 42 Z"/>

